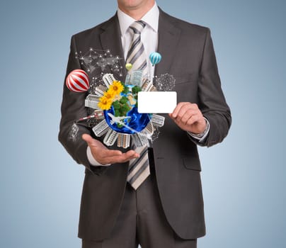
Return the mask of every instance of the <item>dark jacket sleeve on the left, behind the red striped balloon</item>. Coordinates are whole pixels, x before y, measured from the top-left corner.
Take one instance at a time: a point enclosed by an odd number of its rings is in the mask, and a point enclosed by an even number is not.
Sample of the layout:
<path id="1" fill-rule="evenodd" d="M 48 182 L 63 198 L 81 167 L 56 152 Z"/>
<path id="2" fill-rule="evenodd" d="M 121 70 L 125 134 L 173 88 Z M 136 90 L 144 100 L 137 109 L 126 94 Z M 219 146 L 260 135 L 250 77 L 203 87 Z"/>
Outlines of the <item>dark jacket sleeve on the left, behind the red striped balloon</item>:
<path id="1" fill-rule="evenodd" d="M 81 69 L 81 65 L 79 59 L 76 59 L 76 39 L 74 36 L 72 36 L 69 62 L 67 64 L 67 74 L 65 79 L 67 78 L 67 75 L 74 69 Z M 74 122 L 79 118 L 88 115 L 86 107 L 84 106 L 85 98 L 86 92 L 79 93 L 70 91 L 64 84 L 61 108 L 62 119 L 59 125 L 59 142 L 62 143 L 67 152 L 69 152 L 71 157 L 78 164 L 84 164 L 86 169 L 92 173 L 101 174 L 104 167 L 93 167 L 90 164 L 86 155 L 87 144 L 81 139 L 81 135 L 84 133 L 91 135 L 90 128 L 84 125 L 78 125 L 79 132 L 76 136 L 76 140 L 69 139 L 69 132 Z"/>

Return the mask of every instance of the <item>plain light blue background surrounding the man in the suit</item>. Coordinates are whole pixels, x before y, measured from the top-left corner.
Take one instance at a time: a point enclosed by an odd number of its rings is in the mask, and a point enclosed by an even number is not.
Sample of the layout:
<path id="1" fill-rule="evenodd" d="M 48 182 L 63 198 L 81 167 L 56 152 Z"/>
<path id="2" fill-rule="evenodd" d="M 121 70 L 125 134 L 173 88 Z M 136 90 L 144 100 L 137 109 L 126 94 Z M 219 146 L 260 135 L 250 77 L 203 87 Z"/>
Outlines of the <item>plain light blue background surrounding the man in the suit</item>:
<path id="1" fill-rule="evenodd" d="M 208 26 L 233 115 L 201 148 L 207 236 L 198 247 L 286 247 L 283 0 L 158 0 Z M 69 42 L 115 1 L 1 1 L 0 247 L 80 247 L 84 167 L 57 141 Z"/>

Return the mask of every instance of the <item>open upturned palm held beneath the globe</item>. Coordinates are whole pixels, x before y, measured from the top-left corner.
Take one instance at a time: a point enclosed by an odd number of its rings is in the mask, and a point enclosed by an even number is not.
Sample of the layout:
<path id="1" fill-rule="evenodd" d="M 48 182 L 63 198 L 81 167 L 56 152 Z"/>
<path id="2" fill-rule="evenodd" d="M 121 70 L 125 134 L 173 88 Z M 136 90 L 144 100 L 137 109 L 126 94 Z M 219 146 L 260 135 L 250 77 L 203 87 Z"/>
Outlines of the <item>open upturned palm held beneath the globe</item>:
<path id="1" fill-rule="evenodd" d="M 134 150 L 122 153 L 120 150 L 109 150 L 103 143 L 93 139 L 91 135 L 84 134 L 82 139 L 86 141 L 88 147 L 91 148 L 91 154 L 98 163 L 101 164 L 115 164 L 124 163 L 130 159 L 139 157 Z"/>

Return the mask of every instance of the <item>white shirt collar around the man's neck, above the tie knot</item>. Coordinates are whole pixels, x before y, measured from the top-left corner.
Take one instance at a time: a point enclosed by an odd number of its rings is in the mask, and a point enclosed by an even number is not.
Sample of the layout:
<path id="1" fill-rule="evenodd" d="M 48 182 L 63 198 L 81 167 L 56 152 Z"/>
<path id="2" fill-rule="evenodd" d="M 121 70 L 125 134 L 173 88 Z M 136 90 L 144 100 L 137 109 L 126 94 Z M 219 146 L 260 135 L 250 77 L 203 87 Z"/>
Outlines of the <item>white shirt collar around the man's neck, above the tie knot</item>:
<path id="1" fill-rule="evenodd" d="M 136 20 L 118 8 L 118 21 L 120 26 L 121 35 L 125 35 L 127 29 Z M 156 33 L 158 32 L 159 25 L 159 8 L 155 2 L 154 6 L 141 18 L 141 21 L 147 23 Z"/>

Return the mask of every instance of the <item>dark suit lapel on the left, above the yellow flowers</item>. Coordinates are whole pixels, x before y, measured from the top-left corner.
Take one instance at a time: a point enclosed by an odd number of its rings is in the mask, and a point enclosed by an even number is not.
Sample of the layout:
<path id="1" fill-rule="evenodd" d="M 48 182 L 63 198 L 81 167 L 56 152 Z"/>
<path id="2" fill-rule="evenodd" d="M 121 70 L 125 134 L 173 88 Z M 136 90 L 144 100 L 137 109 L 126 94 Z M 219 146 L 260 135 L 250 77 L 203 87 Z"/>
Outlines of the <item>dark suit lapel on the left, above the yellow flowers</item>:
<path id="1" fill-rule="evenodd" d="M 125 69 L 124 54 L 122 50 L 121 34 L 118 22 L 118 16 L 115 14 L 113 18 L 110 18 L 101 29 L 103 32 L 100 35 L 101 46 L 103 50 L 110 50 L 113 56 L 120 57 L 120 66 L 122 67 L 122 75 L 120 76 L 117 72 L 112 72 L 115 79 L 125 81 L 127 71 Z M 111 72 L 111 71 L 110 71 Z"/>

